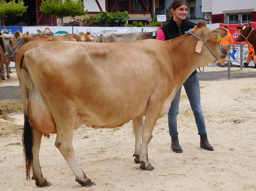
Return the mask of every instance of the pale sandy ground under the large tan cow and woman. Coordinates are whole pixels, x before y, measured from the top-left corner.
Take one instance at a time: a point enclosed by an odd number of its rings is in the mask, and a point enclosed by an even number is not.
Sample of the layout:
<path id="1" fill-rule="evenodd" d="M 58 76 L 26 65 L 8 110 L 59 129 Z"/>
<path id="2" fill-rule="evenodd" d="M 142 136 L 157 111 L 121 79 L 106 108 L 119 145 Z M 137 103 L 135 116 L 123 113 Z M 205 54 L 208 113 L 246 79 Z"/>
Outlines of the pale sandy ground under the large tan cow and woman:
<path id="1" fill-rule="evenodd" d="M 39 153 L 43 175 L 52 185 L 38 188 L 33 180 L 26 181 L 21 143 L 23 109 L 14 72 L 11 79 L 1 83 L 0 189 L 256 190 L 256 69 L 239 69 L 231 68 L 232 79 L 227 79 L 227 67 L 205 67 L 204 73 L 198 73 L 212 152 L 199 146 L 200 137 L 184 89 L 178 116 L 183 153 L 171 151 L 164 115 L 155 125 L 148 149 L 153 171 L 141 170 L 133 161 L 131 122 L 115 129 L 81 126 L 75 131 L 73 145 L 81 168 L 96 183 L 89 188 L 75 181 L 54 146 L 56 135 L 42 138 Z"/>

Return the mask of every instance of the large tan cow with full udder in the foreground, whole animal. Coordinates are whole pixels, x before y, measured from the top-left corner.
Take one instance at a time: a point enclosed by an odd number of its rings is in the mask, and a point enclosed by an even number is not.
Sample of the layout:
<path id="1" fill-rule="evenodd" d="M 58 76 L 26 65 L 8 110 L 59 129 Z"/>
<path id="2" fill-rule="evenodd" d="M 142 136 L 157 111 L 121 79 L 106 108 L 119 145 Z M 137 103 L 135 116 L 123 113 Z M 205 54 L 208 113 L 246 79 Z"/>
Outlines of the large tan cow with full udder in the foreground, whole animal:
<path id="1" fill-rule="evenodd" d="M 219 55 L 217 62 L 228 60 L 230 52 L 220 51 L 216 42 L 218 35 L 225 37 L 228 30 L 210 30 L 205 22 L 199 22 L 192 32 Z M 27 178 L 32 168 L 36 185 L 50 185 L 42 175 L 38 153 L 42 135 L 57 133 L 55 146 L 76 181 L 94 185 L 76 161 L 74 130 L 81 124 L 116 128 L 130 120 L 135 134 L 134 161 L 141 163 L 141 169 L 153 170 L 148 144 L 157 119 L 168 111 L 176 91 L 197 67 L 216 61 L 204 45 L 201 53 L 195 52 L 197 42 L 196 37 L 185 34 L 167 41 L 24 44 L 15 67 L 24 104 Z"/>

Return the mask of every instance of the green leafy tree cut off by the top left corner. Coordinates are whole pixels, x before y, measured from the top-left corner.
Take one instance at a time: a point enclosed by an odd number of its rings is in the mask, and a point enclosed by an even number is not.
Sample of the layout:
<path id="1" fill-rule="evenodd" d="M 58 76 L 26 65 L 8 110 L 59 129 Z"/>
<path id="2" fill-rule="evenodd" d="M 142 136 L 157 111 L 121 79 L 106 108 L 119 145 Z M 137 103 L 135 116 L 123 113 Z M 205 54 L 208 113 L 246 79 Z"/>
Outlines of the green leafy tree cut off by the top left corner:
<path id="1" fill-rule="evenodd" d="M 16 16 L 22 16 L 24 12 L 27 11 L 28 6 L 24 6 L 22 0 L 18 0 L 18 3 L 15 0 L 6 2 L 0 0 L 0 24 L 7 18 L 7 14 L 15 14 Z"/>

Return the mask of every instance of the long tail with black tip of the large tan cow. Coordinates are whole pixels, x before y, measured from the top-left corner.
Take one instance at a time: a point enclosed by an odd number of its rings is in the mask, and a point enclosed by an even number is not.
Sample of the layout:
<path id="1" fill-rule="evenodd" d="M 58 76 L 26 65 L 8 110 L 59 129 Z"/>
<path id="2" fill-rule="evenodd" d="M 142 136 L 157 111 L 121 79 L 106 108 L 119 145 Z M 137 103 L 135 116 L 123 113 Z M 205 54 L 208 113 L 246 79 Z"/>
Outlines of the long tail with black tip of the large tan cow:
<path id="1" fill-rule="evenodd" d="M 20 82 L 20 91 L 21 91 L 23 108 L 24 108 L 24 129 L 23 129 L 23 136 L 22 136 L 23 154 L 24 154 L 24 160 L 26 162 L 26 179 L 30 180 L 30 171 L 33 165 L 33 153 L 32 153 L 33 132 L 28 120 L 28 98 L 25 90 L 25 82 L 23 79 L 23 75 L 21 73 L 22 59 L 24 58 L 24 53 L 21 55 L 18 53 L 15 59 L 15 69 Z"/>

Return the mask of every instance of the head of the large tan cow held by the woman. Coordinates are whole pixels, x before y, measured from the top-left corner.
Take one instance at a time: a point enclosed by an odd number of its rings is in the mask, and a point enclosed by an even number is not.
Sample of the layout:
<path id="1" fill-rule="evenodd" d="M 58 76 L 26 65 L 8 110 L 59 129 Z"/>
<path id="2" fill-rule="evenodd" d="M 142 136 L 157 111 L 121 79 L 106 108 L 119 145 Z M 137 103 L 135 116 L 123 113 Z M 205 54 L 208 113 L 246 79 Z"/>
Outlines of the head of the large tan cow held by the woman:
<path id="1" fill-rule="evenodd" d="M 222 46 L 220 51 L 219 44 L 221 39 L 228 35 L 227 29 L 219 27 L 215 30 L 211 30 L 206 26 L 205 22 L 198 22 L 196 27 L 192 29 L 192 33 L 196 35 L 199 39 L 202 39 L 202 41 L 211 49 L 209 50 L 206 45 L 202 45 L 202 63 L 206 63 L 206 61 L 208 63 L 224 62 L 229 59 L 230 52 L 224 49 Z M 200 54 L 202 54 L 202 52 Z M 217 60 L 216 57 L 218 58 Z M 199 67 L 203 66 L 205 66 L 205 64 L 199 65 Z"/>

